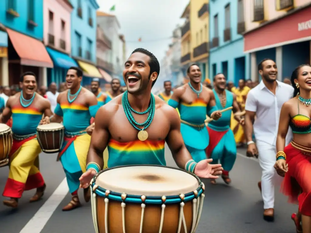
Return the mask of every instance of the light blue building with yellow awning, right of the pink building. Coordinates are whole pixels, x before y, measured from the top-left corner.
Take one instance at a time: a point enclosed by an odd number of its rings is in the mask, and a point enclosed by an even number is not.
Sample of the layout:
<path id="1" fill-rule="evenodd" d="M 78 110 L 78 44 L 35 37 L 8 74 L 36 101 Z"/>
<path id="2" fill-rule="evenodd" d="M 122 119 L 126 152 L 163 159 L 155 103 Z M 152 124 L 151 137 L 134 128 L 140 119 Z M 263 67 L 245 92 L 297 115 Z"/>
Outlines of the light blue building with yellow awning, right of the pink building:
<path id="1" fill-rule="evenodd" d="M 95 0 L 71 0 L 71 54 L 83 72 L 82 84 L 91 83 L 91 78 L 102 78 L 96 68 L 96 10 Z"/>

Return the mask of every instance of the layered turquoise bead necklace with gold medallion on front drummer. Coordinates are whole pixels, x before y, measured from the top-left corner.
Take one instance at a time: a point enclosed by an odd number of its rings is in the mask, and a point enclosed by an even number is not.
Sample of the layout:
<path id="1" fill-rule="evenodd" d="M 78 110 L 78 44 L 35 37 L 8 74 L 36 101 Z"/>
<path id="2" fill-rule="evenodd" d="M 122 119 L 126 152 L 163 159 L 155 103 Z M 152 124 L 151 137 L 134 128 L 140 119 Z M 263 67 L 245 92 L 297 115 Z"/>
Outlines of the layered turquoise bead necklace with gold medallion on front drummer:
<path id="1" fill-rule="evenodd" d="M 122 106 L 123 106 L 123 109 L 124 109 L 124 112 L 125 112 L 125 115 L 126 117 L 128 118 L 128 121 L 131 123 L 131 125 L 139 130 L 138 132 L 138 139 L 141 140 L 141 141 L 145 141 L 147 138 L 148 138 L 148 133 L 145 131 L 151 124 L 152 120 L 153 120 L 153 117 L 155 115 L 155 111 L 156 111 L 156 100 L 155 100 L 155 97 L 153 96 L 153 94 L 151 93 L 151 97 L 150 97 L 150 105 L 148 106 L 147 110 L 144 111 L 144 112 L 137 112 L 135 111 L 129 101 L 128 101 L 128 91 L 125 91 L 123 93 L 123 96 L 122 96 Z M 144 122 L 144 123 L 138 123 L 132 112 L 136 113 L 136 114 L 146 114 L 149 112 L 149 115 L 147 117 L 147 120 Z M 142 126 L 143 129 L 140 129 L 138 128 L 137 126 Z"/>

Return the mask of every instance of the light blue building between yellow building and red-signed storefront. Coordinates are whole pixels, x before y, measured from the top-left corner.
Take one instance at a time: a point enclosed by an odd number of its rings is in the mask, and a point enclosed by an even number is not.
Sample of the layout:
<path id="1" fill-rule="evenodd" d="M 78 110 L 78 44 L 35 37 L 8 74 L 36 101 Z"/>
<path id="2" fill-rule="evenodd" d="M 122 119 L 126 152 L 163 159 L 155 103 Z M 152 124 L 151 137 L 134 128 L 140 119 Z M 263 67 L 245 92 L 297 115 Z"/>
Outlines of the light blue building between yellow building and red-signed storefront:
<path id="1" fill-rule="evenodd" d="M 210 1 L 210 74 L 223 73 L 235 85 L 249 79 L 249 55 L 244 54 L 243 0 Z"/>

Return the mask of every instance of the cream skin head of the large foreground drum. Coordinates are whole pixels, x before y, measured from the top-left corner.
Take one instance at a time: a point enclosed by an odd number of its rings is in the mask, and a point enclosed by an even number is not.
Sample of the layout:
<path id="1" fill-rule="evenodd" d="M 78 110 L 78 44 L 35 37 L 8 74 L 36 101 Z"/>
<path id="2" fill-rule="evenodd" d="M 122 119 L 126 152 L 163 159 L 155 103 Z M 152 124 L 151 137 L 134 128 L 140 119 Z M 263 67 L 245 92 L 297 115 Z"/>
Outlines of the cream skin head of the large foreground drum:
<path id="1" fill-rule="evenodd" d="M 102 172 L 99 187 L 117 193 L 145 196 L 173 196 L 193 192 L 200 185 L 185 171 L 157 166 L 118 167 Z"/>

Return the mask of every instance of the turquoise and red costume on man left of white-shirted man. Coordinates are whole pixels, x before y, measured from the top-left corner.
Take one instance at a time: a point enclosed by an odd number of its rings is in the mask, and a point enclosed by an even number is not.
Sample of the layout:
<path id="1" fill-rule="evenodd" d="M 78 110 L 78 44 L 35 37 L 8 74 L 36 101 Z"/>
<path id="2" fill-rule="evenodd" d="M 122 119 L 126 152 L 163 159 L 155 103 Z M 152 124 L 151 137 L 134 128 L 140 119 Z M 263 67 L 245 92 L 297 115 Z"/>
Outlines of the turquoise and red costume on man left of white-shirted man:
<path id="1" fill-rule="evenodd" d="M 226 92 L 226 105 L 222 107 L 220 103 L 220 99 L 213 89 L 216 106 L 219 110 L 231 107 L 233 104 L 233 94 L 225 90 Z M 210 142 L 207 147 L 207 156 L 213 159 L 214 164 L 220 163 L 224 168 L 222 174 L 224 176 L 229 175 L 229 171 L 231 171 L 235 159 L 236 159 L 236 144 L 234 140 L 234 134 L 230 129 L 230 119 L 231 119 L 231 110 L 225 111 L 222 113 L 221 117 L 217 121 L 211 121 L 207 125 L 207 130 L 210 137 Z"/>

